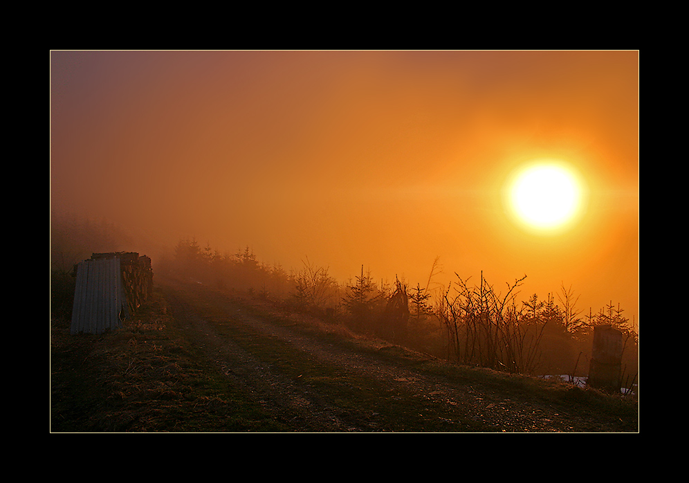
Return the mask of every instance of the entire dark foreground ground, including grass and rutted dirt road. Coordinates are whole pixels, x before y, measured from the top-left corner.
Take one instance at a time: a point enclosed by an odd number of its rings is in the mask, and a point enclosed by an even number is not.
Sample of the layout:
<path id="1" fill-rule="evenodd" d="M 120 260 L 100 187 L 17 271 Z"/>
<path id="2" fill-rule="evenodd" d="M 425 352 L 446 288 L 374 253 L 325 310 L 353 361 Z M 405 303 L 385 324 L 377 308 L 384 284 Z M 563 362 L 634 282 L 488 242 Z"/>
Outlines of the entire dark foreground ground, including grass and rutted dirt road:
<path id="1" fill-rule="evenodd" d="M 638 432 L 638 402 L 461 367 L 157 282 L 122 329 L 50 334 L 50 432 Z"/>

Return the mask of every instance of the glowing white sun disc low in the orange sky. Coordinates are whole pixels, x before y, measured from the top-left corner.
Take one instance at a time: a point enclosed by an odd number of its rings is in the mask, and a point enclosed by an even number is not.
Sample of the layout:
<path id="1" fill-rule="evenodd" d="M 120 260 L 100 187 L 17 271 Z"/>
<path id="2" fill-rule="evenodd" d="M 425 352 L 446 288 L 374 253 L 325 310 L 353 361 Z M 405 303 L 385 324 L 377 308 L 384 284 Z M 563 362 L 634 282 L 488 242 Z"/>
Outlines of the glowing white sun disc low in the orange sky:
<path id="1" fill-rule="evenodd" d="M 580 211 L 582 186 L 575 172 L 558 161 L 538 161 L 520 169 L 508 186 L 508 206 L 526 226 L 563 228 Z"/>

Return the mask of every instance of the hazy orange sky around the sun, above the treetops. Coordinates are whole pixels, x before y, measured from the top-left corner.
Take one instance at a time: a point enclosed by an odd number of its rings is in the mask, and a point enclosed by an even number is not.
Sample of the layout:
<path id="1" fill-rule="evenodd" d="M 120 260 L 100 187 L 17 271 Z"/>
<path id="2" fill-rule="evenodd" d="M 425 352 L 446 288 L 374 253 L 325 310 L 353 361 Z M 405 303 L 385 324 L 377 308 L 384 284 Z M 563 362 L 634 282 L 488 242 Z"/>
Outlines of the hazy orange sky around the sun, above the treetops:
<path id="1" fill-rule="evenodd" d="M 564 282 L 639 322 L 636 51 L 51 52 L 50 84 L 55 210 L 340 281 L 440 257 L 438 282 Z M 543 157 L 589 190 L 557 236 L 502 205 Z"/>

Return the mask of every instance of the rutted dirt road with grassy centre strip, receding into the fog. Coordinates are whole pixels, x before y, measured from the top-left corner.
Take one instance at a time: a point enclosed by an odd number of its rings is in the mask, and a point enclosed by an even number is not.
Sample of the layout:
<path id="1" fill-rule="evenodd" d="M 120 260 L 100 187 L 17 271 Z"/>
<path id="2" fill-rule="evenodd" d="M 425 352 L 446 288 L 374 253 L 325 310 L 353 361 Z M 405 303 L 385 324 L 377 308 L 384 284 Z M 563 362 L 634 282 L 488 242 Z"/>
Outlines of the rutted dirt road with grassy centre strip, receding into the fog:
<path id="1" fill-rule="evenodd" d="M 638 431 L 636 417 L 601 410 L 583 390 L 542 391 L 544 381 L 332 336 L 201 284 L 167 281 L 163 292 L 194 349 L 293 431 Z"/>

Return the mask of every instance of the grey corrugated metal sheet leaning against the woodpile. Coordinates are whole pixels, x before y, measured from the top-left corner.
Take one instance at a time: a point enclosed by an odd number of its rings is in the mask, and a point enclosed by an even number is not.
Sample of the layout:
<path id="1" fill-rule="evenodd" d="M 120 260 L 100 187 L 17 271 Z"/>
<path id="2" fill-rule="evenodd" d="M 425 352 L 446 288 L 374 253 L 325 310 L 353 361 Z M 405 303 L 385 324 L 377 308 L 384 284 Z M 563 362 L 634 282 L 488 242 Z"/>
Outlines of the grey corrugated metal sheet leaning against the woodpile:
<path id="1" fill-rule="evenodd" d="M 118 329 L 126 316 L 120 259 L 84 260 L 78 264 L 71 334 L 102 334 Z"/>

